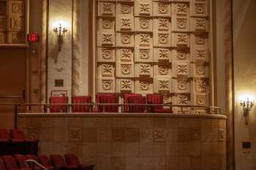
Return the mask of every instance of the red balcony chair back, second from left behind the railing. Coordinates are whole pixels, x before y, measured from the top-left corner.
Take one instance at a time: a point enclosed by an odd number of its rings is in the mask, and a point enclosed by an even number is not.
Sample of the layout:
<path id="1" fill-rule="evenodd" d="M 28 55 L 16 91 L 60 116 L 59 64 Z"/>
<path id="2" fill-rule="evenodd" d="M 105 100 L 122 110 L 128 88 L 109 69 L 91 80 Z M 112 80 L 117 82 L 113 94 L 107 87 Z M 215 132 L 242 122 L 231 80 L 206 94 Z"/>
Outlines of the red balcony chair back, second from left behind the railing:
<path id="1" fill-rule="evenodd" d="M 91 96 L 72 96 L 73 104 L 91 104 Z M 74 105 L 72 112 L 90 112 L 89 105 Z"/>

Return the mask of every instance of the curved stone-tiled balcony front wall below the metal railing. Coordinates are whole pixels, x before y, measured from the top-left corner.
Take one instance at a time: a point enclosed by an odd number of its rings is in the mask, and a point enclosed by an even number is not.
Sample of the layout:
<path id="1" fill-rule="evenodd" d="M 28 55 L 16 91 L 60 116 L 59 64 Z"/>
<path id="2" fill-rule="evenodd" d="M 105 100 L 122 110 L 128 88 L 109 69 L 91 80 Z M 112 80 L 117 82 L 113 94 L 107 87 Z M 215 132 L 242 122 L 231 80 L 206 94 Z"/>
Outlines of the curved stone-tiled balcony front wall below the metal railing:
<path id="1" fill-rule="evenodd" d="M 18 128 L 40 140 L 40 154 L 72 152 L 96 170 L 226 169 L 222 118 L 54 115 L 18 117 Z"/>

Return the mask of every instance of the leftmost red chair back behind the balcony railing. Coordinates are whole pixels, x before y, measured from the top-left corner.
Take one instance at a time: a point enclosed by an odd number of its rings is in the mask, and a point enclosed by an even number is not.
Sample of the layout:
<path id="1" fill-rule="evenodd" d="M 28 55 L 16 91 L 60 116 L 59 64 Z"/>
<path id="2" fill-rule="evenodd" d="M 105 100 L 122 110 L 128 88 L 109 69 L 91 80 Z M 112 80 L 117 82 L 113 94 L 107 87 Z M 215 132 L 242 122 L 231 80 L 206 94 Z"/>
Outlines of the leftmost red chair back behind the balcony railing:
<path id="1" fill-rule="evenodd" d="M 52 96 L 49 98 L 49 100 L 50 104 L 57 104 L 50 106 L 50 112 L 67 112 L 67 105 L 65 105 L 69 101 L 69 98 L 67 96 Z"/>

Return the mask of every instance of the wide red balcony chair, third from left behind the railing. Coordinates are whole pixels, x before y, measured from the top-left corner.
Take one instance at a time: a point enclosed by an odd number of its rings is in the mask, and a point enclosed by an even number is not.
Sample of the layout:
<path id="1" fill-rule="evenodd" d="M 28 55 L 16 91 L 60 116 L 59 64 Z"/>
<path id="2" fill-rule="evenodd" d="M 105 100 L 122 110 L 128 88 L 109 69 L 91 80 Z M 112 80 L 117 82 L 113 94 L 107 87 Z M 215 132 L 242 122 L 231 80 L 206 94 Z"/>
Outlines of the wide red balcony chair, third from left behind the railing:
<path id="1" fill-rule="evenodd" d="M 118 96 L 114 93 L 97 93 L 96 95 L 97 104 L 113 104 L 113 105 L 102 105 L 98 107 L 98 112 L 118 112 Z"/>

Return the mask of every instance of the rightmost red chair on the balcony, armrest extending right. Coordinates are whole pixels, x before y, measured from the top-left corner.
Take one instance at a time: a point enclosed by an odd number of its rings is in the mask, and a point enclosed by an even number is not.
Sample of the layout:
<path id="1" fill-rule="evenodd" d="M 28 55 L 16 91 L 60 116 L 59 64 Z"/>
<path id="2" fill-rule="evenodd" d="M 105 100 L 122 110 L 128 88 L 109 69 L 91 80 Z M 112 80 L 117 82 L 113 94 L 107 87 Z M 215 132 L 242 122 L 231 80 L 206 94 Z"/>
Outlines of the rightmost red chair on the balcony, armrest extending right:
<path id="1" fill-rule="evenodd" d="M 161 94 L 147 94 L 148 104 L 163 104 L 164 97 Z M 172 109 L 164 109 L 163 106 L 152 106 L 151 112 L 155 113 L 172 113 Z"/>

